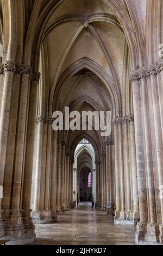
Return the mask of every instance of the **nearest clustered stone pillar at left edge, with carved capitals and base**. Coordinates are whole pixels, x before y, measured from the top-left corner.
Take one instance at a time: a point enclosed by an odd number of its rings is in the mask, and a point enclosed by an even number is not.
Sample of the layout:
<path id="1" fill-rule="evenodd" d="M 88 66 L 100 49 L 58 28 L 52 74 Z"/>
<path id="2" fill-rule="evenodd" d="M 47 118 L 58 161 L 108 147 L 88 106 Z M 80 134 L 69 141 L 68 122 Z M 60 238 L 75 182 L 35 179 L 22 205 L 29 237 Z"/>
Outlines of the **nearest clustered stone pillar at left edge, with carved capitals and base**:
<path id="1" fill-rule="evenodd" d="M 35 239 L 31 218 L 30 192 L 36 97 L 40 74 L 25 64 L 10 60 L 0 65 L 3 82 L 0 118 L 0 233 L 10 244 L 21 237 L 23 244 Z M 28 121 L 31 121 L 30 127 Z M 28 141 L 29 139 L 29 141 Z M 28 192 L 28 193 L 27 193 Z M 20 243 L 21 243 L 20 241 Z"/>

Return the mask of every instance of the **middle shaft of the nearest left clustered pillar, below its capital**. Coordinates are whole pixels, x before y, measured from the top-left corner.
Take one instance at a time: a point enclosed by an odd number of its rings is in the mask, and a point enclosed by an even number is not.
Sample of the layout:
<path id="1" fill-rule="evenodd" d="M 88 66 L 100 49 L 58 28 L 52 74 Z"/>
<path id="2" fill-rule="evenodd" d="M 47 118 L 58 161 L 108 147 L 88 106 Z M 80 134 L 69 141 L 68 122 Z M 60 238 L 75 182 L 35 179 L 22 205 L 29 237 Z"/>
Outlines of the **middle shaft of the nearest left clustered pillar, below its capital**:
<path id="1" fill-rule="evenodd" d="M 30 69 L 30 68 L 29 68 Z M 24 176 L 24 156 L 26 154 L 26 134 L 29 105 L 29 74 L 23 74 L 21 80 L 20 108 L 18 114 L 17 141 L 15 150 L 14 179 L 11 200 L 11 223 L 22 224 L 22 200 Z"/>

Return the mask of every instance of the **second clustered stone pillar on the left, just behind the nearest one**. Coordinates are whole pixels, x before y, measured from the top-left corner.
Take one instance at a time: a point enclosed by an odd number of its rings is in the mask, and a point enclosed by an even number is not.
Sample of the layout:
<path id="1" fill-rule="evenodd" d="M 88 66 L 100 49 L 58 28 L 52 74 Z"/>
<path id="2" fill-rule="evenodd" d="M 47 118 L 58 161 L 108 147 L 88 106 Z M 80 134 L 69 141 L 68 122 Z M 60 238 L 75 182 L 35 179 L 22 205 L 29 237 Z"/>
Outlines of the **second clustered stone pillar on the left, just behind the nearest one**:
<path id="1" fill-rule="evenodd" d="M 45 115 L 38 115 L 37 139 L 35 143 L 36 162 L 33 165 L 33 185 L 34 185 L 34 223 L 51 223 L 52 212 L 50 209 L 50 186 L 51 186 L 51 133 L 52 118 Z M 48 130 L 49 126 L 49 130 Z M 47 150 L 49 155 L 47 156 Z"/>

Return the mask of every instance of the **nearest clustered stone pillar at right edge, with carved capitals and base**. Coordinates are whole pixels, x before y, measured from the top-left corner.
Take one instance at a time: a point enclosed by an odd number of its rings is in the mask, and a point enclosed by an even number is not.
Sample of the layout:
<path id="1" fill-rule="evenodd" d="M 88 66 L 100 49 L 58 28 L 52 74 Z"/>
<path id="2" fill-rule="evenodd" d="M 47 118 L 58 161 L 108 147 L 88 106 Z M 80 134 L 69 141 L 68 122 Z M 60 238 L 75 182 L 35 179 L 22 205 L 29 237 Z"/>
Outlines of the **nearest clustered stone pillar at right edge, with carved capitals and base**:
<path id="1" fill-rule="evenodd" d="M 163 242 L 162 78 L 162 60 L 130 73 L 140 209 L 137 244 Z"/>

